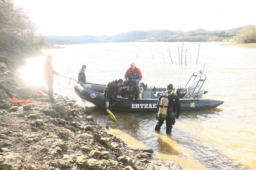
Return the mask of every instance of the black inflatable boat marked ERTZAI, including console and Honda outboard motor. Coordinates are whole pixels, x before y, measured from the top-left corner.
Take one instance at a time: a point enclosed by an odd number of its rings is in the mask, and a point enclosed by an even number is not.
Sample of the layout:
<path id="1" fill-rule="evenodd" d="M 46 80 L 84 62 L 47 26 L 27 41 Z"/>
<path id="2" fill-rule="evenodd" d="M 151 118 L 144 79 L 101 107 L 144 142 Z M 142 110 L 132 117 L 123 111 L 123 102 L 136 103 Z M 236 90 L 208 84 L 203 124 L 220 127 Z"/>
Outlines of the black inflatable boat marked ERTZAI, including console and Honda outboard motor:
<path id="1" fill-rule="evenodd" d="M 193 73 L 191 79 L 199 77 L 198 80 L 193 80 L 191 84 L 185 88 L 174 88 L 174 92 L 180 97 L 181 110 L 202 110 L 202 109 L 213 109 L 218 107 L 223 101 L 213 99 L 202 99 L 205 91 L 203 83 L 206 80 L 206 75 Z M 77 84 L 74 87 L 76 94 L 85 101 L 93 103 L 94 105 L 105 107 L 106 99 L 103 91 L 106 85 L 103 84 Z M 119 92 L 123 87 L 119 88 Z M 148 88 L 147 86 L 140 85 L 140 96 L 139 99 L 128 99 L 119 98 L 121 101 L 115 105 L 114 110 L 122 111 L 156 111 L 156 104 L 158 100 L 158 93 L 164 91 L 166 88 Z"/>

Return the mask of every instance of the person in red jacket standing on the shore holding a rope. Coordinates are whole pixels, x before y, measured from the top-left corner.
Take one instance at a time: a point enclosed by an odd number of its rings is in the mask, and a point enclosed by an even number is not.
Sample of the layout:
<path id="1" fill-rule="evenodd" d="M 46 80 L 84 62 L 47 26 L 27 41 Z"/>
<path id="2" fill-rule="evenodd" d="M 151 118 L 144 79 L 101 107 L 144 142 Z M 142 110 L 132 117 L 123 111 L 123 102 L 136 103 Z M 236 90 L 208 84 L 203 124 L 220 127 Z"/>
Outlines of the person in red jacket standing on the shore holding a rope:
<path id="1" fill-rule="evenodd" d="M 48 54 L 46 56 L 46 62 L 44 63 L 44 67 L 43 67 L 43 76 L 44 76 L 44 81 L 46 82 L 47 86 L 48 86 L 48 95 L 50 97 L 51 102 L 55 102 L 55 99 L 53 98 L 53 75 L 57 75 L 60 76 L 59 73 L 57 73 L 52 65 L 51 65 L 51 61 L 52 61 L 52 55 Z"/>

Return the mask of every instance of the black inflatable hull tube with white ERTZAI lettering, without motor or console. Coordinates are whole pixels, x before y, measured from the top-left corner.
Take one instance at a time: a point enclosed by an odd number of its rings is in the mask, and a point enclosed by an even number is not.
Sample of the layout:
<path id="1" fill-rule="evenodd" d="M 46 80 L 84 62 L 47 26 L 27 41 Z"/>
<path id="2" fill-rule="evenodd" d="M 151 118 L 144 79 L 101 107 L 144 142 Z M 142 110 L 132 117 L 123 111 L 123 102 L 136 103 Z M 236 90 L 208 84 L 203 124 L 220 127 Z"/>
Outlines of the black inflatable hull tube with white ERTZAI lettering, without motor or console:
<path id="1" fill-rule="evenodd" d="M 105 107 L 106 99 L 102 93 L 86 88 L 83 84 L 77 84 L 74 90 L 81 99 L 93 103 L 94 105 Z M 121 102 L 115 105 L 115 110 L 157 111 L 156 104 L 158 99 L 129 100 L 121 98 L 120 100 Z M 211 99 L 180 99 L 180 101 L 181 110 L 213 109 L 224 103 L 223 101 Z"/>

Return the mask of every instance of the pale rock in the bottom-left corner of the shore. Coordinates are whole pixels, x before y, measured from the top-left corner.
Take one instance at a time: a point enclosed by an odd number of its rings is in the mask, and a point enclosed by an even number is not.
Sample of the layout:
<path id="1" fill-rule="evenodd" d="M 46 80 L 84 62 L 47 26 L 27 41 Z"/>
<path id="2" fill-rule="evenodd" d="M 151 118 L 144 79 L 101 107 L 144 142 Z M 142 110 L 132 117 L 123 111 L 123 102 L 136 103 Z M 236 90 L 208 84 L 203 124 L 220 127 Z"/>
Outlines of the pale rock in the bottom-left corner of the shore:
<path id="1" fill-rule="evenodd" d="M 8 154 L 6 156 L 0 155 L 0 169 L 20 169 L 21 163 L 19 154 Z"/>

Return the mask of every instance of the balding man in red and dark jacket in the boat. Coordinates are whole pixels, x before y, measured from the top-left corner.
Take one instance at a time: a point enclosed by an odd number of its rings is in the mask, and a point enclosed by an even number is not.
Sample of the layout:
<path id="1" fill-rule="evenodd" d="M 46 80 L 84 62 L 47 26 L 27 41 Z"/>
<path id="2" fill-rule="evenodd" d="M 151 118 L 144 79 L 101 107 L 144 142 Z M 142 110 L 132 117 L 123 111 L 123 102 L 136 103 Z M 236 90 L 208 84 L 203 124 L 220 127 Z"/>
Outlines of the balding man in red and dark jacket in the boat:
<path id="1" fill-rule="evenodd" d="M 138 83 L 142 79 L 141 70 L 135 66 L 134 62 L 131 63 L 131 67 L 125 73 L 125 82 L 132 79 L 137 80 Z"/>

